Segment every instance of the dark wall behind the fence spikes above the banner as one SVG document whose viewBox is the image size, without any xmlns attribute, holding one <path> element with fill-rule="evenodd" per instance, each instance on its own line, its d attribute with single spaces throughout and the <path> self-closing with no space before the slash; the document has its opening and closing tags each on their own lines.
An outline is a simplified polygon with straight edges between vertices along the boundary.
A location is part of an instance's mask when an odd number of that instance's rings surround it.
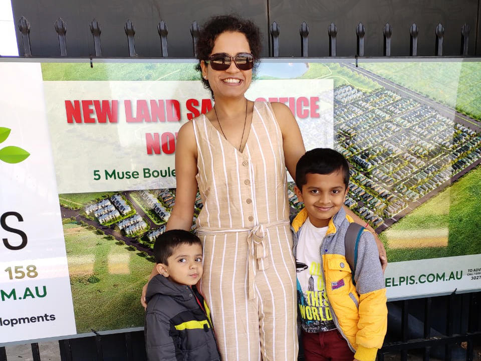
<svg viewBox="0 0 481 361">
<path fill-rule="evenodd" d="M 309 25 L 309 56 L 329 55 L 327 29 L 335 23 L 337 56 L 356 53 L 355 29 L 362 22 L 366 29 L 365 55 L 381 56 L 382 29 L 392 26 L 391 54 L 409 55 L 409 27 L 419 29 L 418 55 L 434 55 L 434 28 L 444 26 L 443 55 L 459 55 L 461 26 L 470 27 L 469 55 L 481 55 L 481 0 L 15 0 L 14 19 L 25 16 L 31 24 L 32 55 L 60 56 L 54 22 L 58 17 L 67 24 L 67 54 L 89 56 L 94 53 L 89 24 L 95 18 L 101 24 L 102 55 L 128 57 L 124 24 L 130 19 L 135 28 L 136 51 L 140 56 L 160 57 L 160 38 L 157 24 L 163 20 L 168 26 L 169 57 L 191 57 L 190 25 L 201 24 L 215 14 L 237 13 L 252 19 L 264 33 L 264 56 L 269 55 L 269 25 L 280 26 L 280 56 L 300 56 L 299 27 Z M 19 30 L 19 53 L 23 54 Z"/>
</svg>

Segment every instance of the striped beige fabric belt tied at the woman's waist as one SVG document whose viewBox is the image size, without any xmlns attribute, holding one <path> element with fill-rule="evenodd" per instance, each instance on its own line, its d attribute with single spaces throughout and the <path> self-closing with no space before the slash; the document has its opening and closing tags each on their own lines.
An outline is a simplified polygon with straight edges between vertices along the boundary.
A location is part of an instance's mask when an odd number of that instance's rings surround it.
<svg viewBox="0 0 481 361">
<path fill-rule="evenodd" d="M 238 233 L 249 232 L 247 242 L 249 245 L 249 263 L 248 263 L 248 281 L 249 281 L 249 300 L 256 298 L 256 292 L 254 291 L 254 278 L 257 271 L 264 271 L 269 269 L 269 250 L 264 243 L 266 237 L 266 230 L 272 227 L 278 227 L 288 225 L 289 220 L 282 220 L 273 223 L 261 223 L 253 228 L 237 228 L 237 229 L 221 229 L 221 230 L 209 230 L 207 228 L 198 228 L 197 235 L 217 235 L 223 233 Z"/>
</svg>

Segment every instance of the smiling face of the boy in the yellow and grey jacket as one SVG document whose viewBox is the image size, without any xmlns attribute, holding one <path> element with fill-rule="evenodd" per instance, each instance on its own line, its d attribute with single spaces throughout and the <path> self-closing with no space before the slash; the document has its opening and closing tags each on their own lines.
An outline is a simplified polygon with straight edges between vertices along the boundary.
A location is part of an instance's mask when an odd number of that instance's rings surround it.
<svg viewBox="0 0 481 361">
<path fill-rule="evenodd" d="M 306 184 L 294 187 L 299 201 L 304 203 L 314 227 L 327 227 L 329 220 L 341 209 L 347 186 L 341 169 L 329 174 L 307 173 Z"/>
</svg>

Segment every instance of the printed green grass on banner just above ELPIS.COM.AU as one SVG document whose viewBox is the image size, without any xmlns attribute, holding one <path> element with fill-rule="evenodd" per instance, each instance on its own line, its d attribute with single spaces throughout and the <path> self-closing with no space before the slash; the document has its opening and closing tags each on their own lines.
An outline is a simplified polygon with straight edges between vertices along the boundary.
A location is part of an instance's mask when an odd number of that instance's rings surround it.
<svg viewBox="0 0 481 361">
<path fill-rule="evenodd" d="M 380 235 L 386 245 L 389 262 L 477 254 L 481 249 L 481 167 L 471 170 L 451 187 L 418 207 L 389 228 L 396 231 L 448 228 L 447 247 L 389 249 L 385 233 Z"/>
</svg>

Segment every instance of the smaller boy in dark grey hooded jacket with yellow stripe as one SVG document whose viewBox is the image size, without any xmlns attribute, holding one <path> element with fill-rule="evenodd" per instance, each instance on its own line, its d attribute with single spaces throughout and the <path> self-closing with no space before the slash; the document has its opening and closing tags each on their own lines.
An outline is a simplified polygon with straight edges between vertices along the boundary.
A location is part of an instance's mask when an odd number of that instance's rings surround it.
<svg viewBox="0 0 481 361">
<path fill-rule="evenodd" d="M 159 275 L 148 286 L 145 345 L 149 361 L 220 360 L 210 313 L 195 284 L 202 276 L 202 245 L 182 230 L 154 244 Z"/>
</svg>

